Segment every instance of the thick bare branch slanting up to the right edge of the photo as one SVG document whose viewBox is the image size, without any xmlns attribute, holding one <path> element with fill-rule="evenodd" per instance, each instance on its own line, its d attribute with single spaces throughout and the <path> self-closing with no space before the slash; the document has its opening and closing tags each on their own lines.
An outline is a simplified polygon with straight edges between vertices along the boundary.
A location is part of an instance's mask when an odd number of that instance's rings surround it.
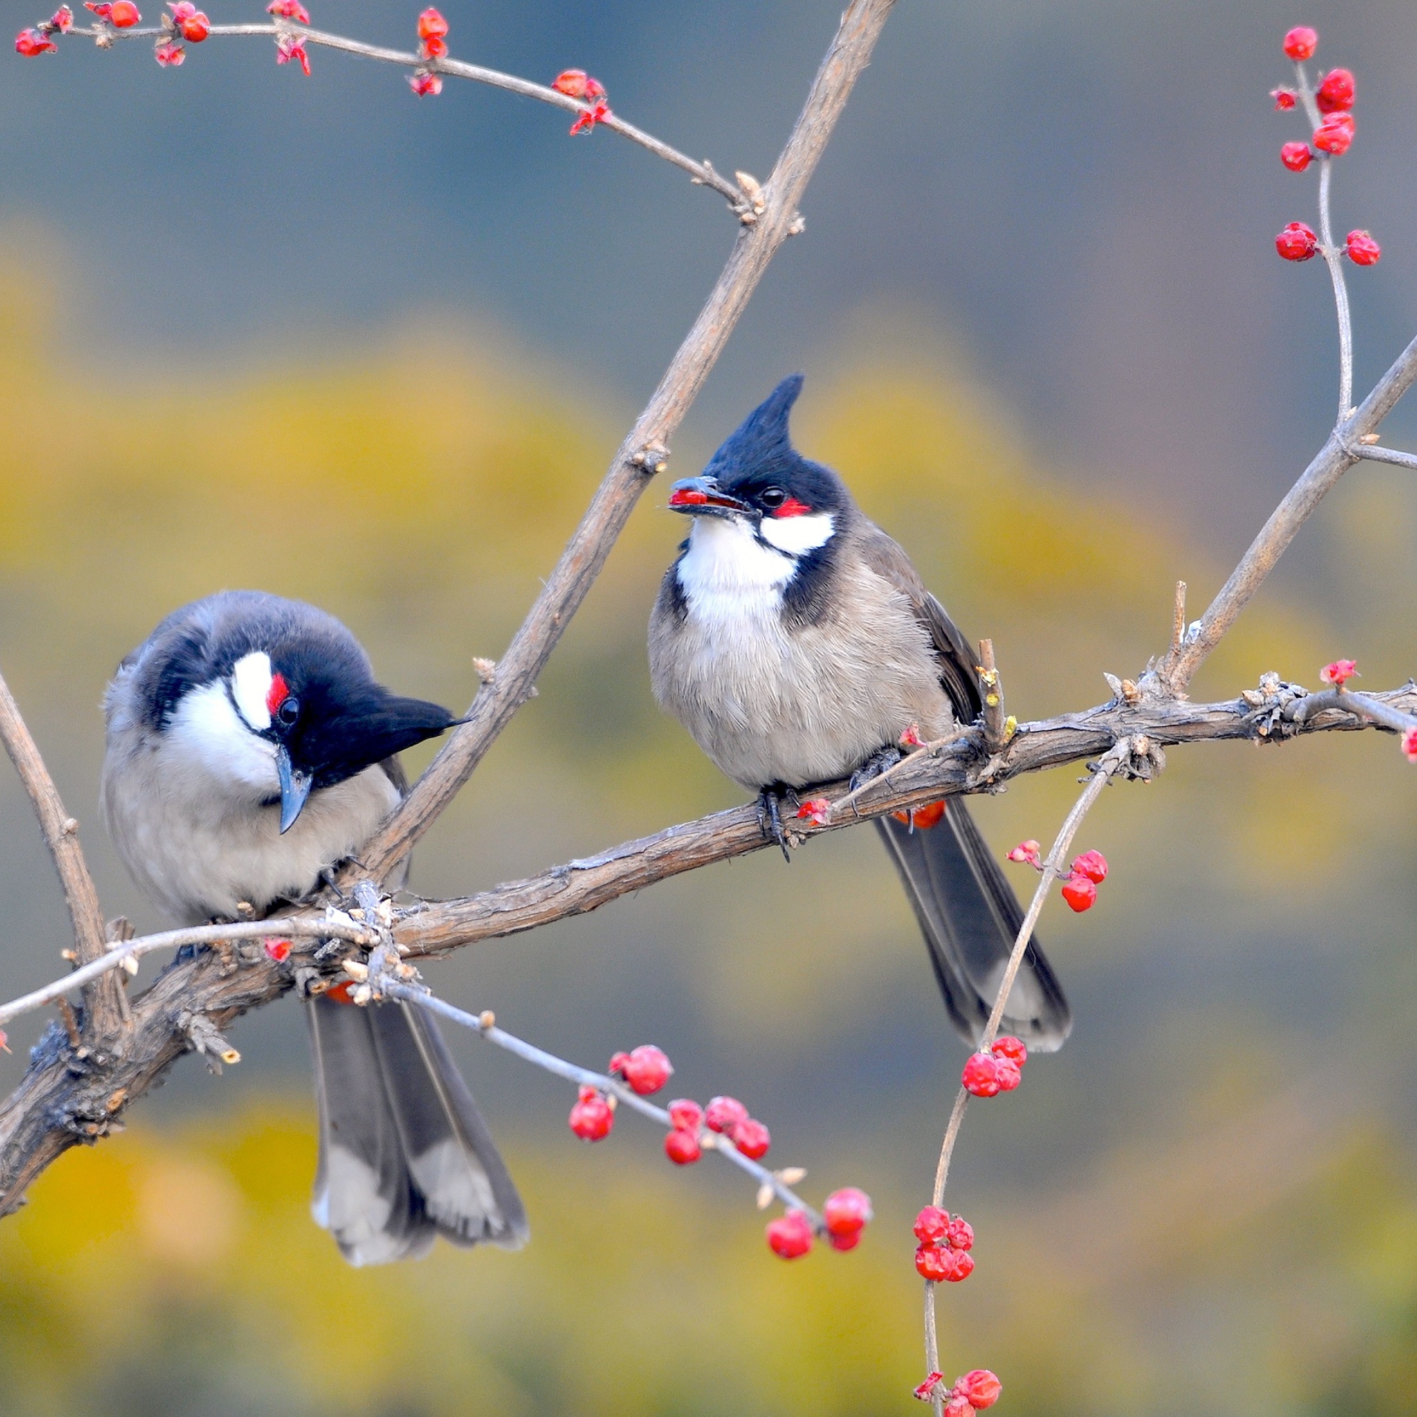
<svg viewBox="0 0 1417 1417">
<path fill-rule="evenodd" d="M 1179 650 L 1170 650 L 1162 659 L 1156 674 L 1166 693 L 1185 693 L 1196 670 L 1250 604 L 1299 527 L 1338 485 L 1339 478 L 1367 453 L 1369 449 L 1362 446 L 1362 439 L 1377 431 L 1377 425 L 1411 388 L 1414 380 L 1417 380 L 1417 339 L 1403 350 L 1362 405 L 1333 429 L 1318 456 L 1274 509 L 1270 520 L 1250 544 L 1250 550 L 1230 572 L 1230 580 L 1200 618 L 1196 633 L 1187 635 Z"/>
</svg>

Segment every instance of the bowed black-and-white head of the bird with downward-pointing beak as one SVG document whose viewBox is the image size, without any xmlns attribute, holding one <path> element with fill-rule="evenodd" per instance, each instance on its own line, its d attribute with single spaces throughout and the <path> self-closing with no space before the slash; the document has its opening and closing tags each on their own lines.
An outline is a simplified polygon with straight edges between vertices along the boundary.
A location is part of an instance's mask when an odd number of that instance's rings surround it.
<svg viewBox="0 0 1417 1417">
<path fill-rule="evenodd" d="M 252 592 L 217 599 L 210 625 L 160 653 L 152 716 L 218 789 L 279 802 L 282 833 L 312 791 L 456 721 L 438 704 L 376 683 L 359 642 L 324 612 Z"/>
</svg>

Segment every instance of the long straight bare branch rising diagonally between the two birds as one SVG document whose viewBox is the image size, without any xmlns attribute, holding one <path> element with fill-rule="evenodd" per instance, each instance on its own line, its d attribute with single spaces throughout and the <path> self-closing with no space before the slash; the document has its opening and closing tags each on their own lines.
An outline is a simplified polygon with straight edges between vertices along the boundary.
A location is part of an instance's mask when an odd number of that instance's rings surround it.
<svg viewBox="0 0 1417 1417">
<path fill-rule="evenodd" d="M 894 0 L 852 0 L 818 69 L 792 135 L 762 187 L 762 214 L 734 244 L 718 283 L 699 313 L 649 405 L 621 445 L 589 509 L 547 578 L 507 652 L 428 771 L 364 849 L 367 870 L 384 880 L 428 830 L 530 697 L 537 674 L 585 599 L 667 445 L 717 363 L 738 317 L 778 248 L 798 230 L 796 208 L 870 60 Z"/>
</svg>

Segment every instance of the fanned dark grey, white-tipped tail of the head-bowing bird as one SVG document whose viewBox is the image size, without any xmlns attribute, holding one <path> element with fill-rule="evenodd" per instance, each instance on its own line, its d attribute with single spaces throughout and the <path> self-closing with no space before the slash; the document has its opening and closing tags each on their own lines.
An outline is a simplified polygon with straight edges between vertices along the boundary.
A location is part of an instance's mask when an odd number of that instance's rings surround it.
<svg viewBox="0 0 1417 1417">
<path fill-rule="evenodd" d="M 315 1219 L 350 1264 L 526 1243 L 507 1168 L 436 1024 L 417 1005 L 307 1006 L 320 1163 Z"/>
</svg>

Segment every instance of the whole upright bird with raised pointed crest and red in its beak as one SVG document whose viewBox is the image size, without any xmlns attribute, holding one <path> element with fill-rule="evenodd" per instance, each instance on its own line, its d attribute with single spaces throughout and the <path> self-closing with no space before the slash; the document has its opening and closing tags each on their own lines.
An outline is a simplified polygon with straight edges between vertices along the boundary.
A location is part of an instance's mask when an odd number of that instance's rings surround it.
<svg viewBox="0 0 1417 1417">
<path fill-rule="evenodd" d="M 760 794 L 786 854 L 779 799 L 900 760 L 897 744 L 982 711 L 969 645 L 905 551 L 830 468 L 792 445 L 803 377 L 782 380 L 697 478 L 670 487 L 690 519 L 649 622 L 650 684 L 734 782 Z M 925 937 L 945 1010 L 978 1046 L 1023 911 L 961 798 L 877 820 Z M 791 857 L 789 857 L 791 859 Z M 1033 938 L 1003 1026 L 1061 1047 L 1071 1010 Z"/>
</svg>

